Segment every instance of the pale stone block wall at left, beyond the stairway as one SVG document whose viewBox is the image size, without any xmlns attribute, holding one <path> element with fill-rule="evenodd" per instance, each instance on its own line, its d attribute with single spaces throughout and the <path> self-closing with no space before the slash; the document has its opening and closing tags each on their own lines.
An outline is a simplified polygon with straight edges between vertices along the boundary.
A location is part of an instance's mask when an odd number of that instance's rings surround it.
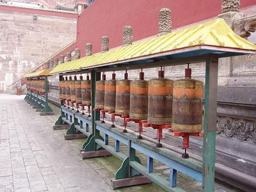
<svg viewBox="0 0 256 192">
<path fill-rule="evenodd" d="M 0 93 L 75 39 L 75 18 L 0 10 Z"/>
</svg>

